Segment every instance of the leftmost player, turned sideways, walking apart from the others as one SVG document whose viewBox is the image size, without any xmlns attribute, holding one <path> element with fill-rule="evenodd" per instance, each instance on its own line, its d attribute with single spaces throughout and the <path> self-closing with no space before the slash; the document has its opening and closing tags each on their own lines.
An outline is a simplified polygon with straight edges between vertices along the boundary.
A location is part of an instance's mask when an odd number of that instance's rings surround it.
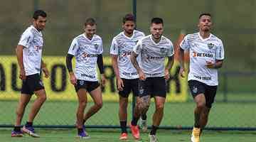
<svg viewBox="0 0 256 142">
<path fill-rule="evenodd" d="M 14 130 L 11 131 L 12 137 L 21 137 L 23 133 L 39 137 L 33 129 L 33 120 L 46 101 L 46 91 L 40 77 L 41 70 L 43 70 L 45 77 L 49 76 L 46 65 L 42 60 L 43 35 L 41 31 L 45 27 L 46 12 L 35 11 L 33 13 L 33 24 L 23 32 L 16 48 L 16 56 L 20 68 L 19 78 L 22 80 L 22 87 L 21 97 L 16 109 L 16 123 Z M 33 94 L 36 94 L 37 98 L 33 102 L 26 125 L 21 129 L 24 111 Z"/>
</svg>

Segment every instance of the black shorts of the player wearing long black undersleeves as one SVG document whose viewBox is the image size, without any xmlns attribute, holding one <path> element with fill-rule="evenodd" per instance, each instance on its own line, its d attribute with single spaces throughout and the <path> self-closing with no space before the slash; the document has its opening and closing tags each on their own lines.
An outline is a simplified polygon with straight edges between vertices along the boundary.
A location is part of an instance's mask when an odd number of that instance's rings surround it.
<svg viewBox="0 0 256 142">
<path fill-rule="evenodd" d="M 100 86 L 99 82 L 90 82 L 85 80 L 77 80 L 75 85 L 75 92 L 78 92 L 79 89 L 86 89 L 87 92 L 92 92 L 94 89 Z"/>
</svg>

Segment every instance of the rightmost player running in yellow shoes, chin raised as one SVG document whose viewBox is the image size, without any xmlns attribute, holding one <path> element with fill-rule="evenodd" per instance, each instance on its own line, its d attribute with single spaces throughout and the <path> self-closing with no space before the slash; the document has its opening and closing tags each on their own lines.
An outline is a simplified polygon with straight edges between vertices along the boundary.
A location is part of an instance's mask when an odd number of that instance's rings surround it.
<svg viewBox="0 0 256 142">
<path fill-rule="evenodd" d="M 184 50 L 189 50 L 188 85 L 196 102 L 192 142 L 199 142 L 202 129 L 207 124 L 218 86 L 218 68 L 223 65 L 223 43 L 210 33 L 212 24 L 210 13 L 202 13 L 198 22 L 199 32 L 186 35 L 180 44 L 180 74 L 184 77 L 183 55 Z"/>
</svg>

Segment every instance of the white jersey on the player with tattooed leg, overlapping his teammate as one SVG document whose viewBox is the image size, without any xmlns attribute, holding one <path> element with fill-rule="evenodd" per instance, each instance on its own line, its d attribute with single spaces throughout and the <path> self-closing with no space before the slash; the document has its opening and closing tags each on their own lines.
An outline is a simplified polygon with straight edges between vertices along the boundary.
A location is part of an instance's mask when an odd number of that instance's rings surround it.
<svg viewBox="0 0 256 142">
<path fill-rule="evenodd" d="M 146 77 L 164 77 L 164 60 L 174 55 L 174 45 L 164 35 L 159 43 L 154 42 L 152 35 L 147 35 L 138 41 L 133 51 L 140 56 L 139 66 Z"/>
</svg>

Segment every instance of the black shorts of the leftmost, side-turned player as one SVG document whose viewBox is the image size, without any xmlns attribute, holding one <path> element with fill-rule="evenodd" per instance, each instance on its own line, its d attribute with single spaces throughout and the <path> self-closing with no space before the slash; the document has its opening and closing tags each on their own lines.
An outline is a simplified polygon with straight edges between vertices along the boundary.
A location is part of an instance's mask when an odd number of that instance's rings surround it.
<svg viewBox="0 0 256 142">
<path fill-rule="evenodd" d="M 32 95 L 40 89 L 44 89 L 44 87 L 39 74 L 28 75 L 26 80 L 22 80 L 21 94 Z"/>
</svg>

